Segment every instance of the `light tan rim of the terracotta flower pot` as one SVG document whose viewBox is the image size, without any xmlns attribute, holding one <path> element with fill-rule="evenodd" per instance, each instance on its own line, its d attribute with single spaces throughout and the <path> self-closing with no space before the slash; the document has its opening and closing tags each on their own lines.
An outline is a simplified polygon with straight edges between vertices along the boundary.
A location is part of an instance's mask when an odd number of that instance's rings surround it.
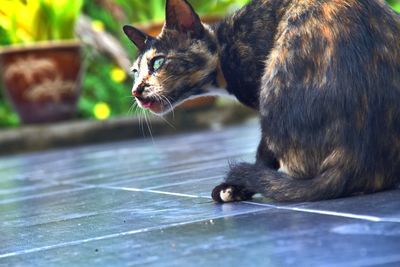
<svg viewBox="0 0 400 267">
<path fill-rule="evenodd" d="M 81 46 L 82 43 L 79 40 L 41 41 L 29 44 L 13 44 L 0 47 L 0 55 L 48 49 L 80 48 Z"/>
</svg>

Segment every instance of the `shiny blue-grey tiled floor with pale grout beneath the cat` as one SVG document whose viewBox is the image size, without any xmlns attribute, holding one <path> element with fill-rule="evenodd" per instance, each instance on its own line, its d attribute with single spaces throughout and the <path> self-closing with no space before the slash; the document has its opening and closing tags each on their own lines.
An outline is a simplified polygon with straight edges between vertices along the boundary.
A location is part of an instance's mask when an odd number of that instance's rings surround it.
<svg viewBox="0 0 400 267">
<path fill-rule="evenodd" d="M 400 266 L 400 190 L 218 205 L 255 122 L 0 158 L 0 266 Z"/>
</svg>

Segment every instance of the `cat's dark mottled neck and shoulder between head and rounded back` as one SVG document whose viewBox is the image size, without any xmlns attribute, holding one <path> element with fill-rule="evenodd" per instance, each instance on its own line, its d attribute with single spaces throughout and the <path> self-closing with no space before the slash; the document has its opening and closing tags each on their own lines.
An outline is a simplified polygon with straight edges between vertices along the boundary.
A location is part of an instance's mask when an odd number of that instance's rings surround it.
<svg viewBox="0 0 400 267">
<path fill-rule="evenodd" d="M 218 87 L 251 108 L 258 110 L 265 60 L 283 7 L 290 1 L 254 0 L 212 28 L 220 51 Z"/>
</svg>

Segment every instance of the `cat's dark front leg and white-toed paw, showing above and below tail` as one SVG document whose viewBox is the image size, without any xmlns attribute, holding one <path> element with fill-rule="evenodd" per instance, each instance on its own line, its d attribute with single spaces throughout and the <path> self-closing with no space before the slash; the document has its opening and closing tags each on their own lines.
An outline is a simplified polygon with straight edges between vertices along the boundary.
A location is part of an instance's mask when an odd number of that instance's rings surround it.
<svg viewBox="0 0 400 267">
<path fill-rule="evenodd" d="M 279 169 L 278 160 L 263 140 L 258 145 L 256 164 L 275 170 Z M 217 202 L 232 202 L 251 199 L 254 194 L 253 191 L 249 191 L 243 186 L 222 183 L 213 189 L 211 197 Z"/>
</svg>

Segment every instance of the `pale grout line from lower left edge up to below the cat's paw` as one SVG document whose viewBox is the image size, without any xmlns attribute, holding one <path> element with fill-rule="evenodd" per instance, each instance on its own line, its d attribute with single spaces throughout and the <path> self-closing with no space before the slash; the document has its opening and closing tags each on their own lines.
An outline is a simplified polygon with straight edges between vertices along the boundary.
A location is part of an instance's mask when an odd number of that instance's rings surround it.
<svg viewBox="0 0 400 267">
<path fill-rule="evenodd" d="M 172 223 L 172 224 L 167 224 L 167 225 L 162 225 L 162 226 L 148 227 L 148 228 L 143 228 L 143 229 L 139 229 L 139 230 L 132 230 L 132 231 L 127 231 L 127 232 L 122 232 L 122 233 L 109 234 L 109 235 L 103 235 L 103 236 L 98 236 L 98 237 L 93 237 L 93 238 L 64 242 L 64 243 L 59 243 L 57 245 L 48 245 L 48 246 L 43 246 L 43 247 L 38 247 L 38 248 L 14 251 L 14 252 L 9 252 L 9 253 L 5 253 L 5 254 L 0 254 L 0 259 L 14 257 L 14 256 L 20 256 L 20 255 L 34 253 L 34 252 L 41 252 L 41 251 L 46 251 L 46 250 L 51 250 L 51 249 L 57 249 L 57 248 L 62 248 L 62 247 L 68 247 L 68 246 L 73 246 L 73 245 L 80 245 L 80 244 L 85 244 L 85 243 L 89 243 L 89 242 L 93 242 L 93 241 L 101 241 L 101 240 L 106 240 L 106 239 L 111 239 L 111 238 L 116 238 L 116 237 L 146 233 L 146 232 L 150 232 L 150 231 L 154 231 L 154 230 L 164 230 L 164 229 L 171 228 L 171 227 L 184 226 L 184 225 L 199 223 L 199 222 L 203 222 L 203 221 L 217 220 L 217 219 L 227 218 L 227 217 L 235 217 L 235 216 L 245 215 L 245 214 L 249 214 L 249 213 L 260 212 L 260 211 L 264 211 L 264 210 L 265 209 L 260 208 L 257 210 L 242 211 L 242 212 L 236 212 L 236 213 L 232 213 L 232 214 L 222 214 L 220 216 L 212 216 L 212 217 L 208 217 L 208 218 L 192 220 L 192 221 L 187 221 L 187 222 Z"/>
</svg>

